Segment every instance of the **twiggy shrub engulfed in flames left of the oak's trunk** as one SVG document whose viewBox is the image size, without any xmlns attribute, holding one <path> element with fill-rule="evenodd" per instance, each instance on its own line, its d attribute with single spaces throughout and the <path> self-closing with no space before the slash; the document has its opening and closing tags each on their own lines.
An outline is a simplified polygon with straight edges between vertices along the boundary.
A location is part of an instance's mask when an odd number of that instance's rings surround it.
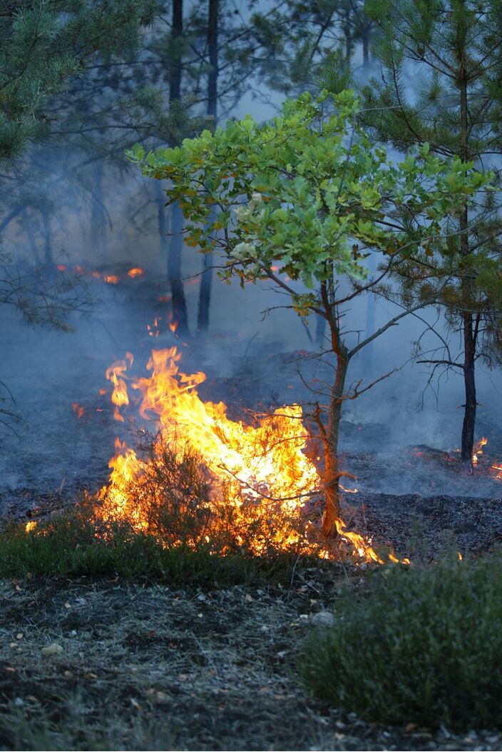
<svg viewBox="0 0 502 752">
<path fill-rule="evenodd" d="M 188 443 L 168 442 L 160 433 L 145 456 L 131 452 L 128 458 L 134 472 L 126 462 L 101 493 L 101 524 L 126 521 L 164 547 L 192 551 L 269 556 L 307 546 L 306 517 L 298 505 L 288 515 L 283 499 L 215 475 Z"/>
</svg>

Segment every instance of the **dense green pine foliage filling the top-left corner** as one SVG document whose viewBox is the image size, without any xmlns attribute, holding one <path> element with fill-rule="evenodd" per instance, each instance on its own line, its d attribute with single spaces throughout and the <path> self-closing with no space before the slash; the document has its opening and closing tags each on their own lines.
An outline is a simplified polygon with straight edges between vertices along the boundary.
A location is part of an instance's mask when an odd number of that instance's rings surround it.
<svg viewBox="0 0 502 752">
<path fill-rule="evenodd" d="M 83 74 L 99 50 L 134 47 L 155 14 L 152 0 L 8 3 L 0 14 L 0 160 L 48 132 L 48 100 Z"/>
</svg>

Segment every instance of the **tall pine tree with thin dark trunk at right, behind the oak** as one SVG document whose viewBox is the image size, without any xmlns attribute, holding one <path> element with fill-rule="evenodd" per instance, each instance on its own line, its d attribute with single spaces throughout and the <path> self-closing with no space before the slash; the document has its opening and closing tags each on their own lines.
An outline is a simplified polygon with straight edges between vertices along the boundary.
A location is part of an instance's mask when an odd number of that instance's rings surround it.
<svg viewBox="0 0 502 752">
<path fill-rule="evenodd" d="M 363 89 L 365 123 L 374 138 L 399 150 L 427 142 L 437 154 L 458 156 L 479 169 L 489 165 L 502 153 L 500 0 L 371 0 L 367 11 L 380 29 L 375 54 L 383 65 L 383 81 L 372 80 Z M 438 347 L 420 358 L 433 369 L 455 368 L 463 375 L 461 458 L 471 466 L 476 361 L 491 363 L 500 351 L 502 220 L 497 194 L 479 196 L 470 210 L 465 202 L 449 224 L 458 230 L 446 251 L 456 271 L 440 303 L 462 345 L 455 354 L 440 335 Z M 445 260 L 433 254 L 428 259 L 431 265 Z M 407 278 L 407 288 L 412 279 Z"/>
</svg>

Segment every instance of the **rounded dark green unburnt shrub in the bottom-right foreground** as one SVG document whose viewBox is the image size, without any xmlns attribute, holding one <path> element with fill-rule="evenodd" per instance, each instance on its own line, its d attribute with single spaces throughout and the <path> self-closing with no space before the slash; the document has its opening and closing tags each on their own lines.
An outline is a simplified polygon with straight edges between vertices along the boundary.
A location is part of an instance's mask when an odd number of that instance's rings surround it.
<svg viewBox="0 0 502 752">
<path fill-rule="evenodd" d="M 397 566 L 335 606 L 299 667 L 313 693 L 377 723 L 502 726 L 502 556 Z"/>
</svg>

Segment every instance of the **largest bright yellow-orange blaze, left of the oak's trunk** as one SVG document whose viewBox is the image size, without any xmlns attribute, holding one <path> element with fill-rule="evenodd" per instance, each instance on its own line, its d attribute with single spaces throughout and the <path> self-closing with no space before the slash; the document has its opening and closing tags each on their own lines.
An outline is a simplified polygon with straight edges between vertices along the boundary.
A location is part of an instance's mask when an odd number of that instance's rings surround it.
<svg viewBox="0 0 502 752">
<path fill-rule="evenodd" d="M 131 353 L 128 356 L 131 364 Z M 278 408 L 254 425 L 230 420 L 223 402 L 200 399 L 197 387 L 206 375 L 183 373 L 180 358 L 176 347 L 152 350 L 147 364 L 151 374 L 131 381 L 132 389 L 140 393 L 140 415 L 155 420 L 157 438 L 146 459 L 116 439 L 116 455 L 109 463 L 110 482 L 99 493 L 98 517 L 128 520 L 138 531 L 152 530 L 150 481 L 158 477 L 166 452 L 186 462 L 188 446 L 200 457 L 210 480 L 197 507 L 198 517 L 204 520 L 200 541 L 225 533 L 223 552 L 245 544 L 256 555 L 294 550 L 331 558 L 335 552 L 326 551 L 326 541 L 319 550 L 314 543 L 315 526 L 308 521 L 311 499 L 321 496 L 322 489 L 317 469 L 305 454 L 308 435 L 301 406 Z M 107 369 L 116 412 L 129 403 L 126 369 L 125 360 Z M 124 420 L 122 415 L 118 420 Z M 172 491 L 179 495 L 177 505 L 184 505 L 185 497 L 192 493 L 191 487 L 182 492 L 179 481 Z M 158 490 L 156 493 L 158 496 Z M 383 563 L 370 542 L 347 531 L 342 520 L 337 521 L 337 529 L 341 539 L 353 547 L 356 558 Z"/>
</svg>

